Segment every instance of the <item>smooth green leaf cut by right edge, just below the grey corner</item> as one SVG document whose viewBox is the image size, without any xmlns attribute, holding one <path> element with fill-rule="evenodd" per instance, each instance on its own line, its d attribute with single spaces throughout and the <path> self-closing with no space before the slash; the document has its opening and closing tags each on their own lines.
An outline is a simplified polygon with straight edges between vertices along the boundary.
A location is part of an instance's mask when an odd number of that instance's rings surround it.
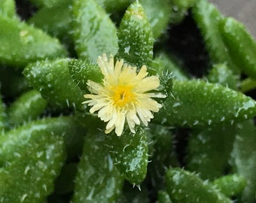
<svg viewBox="0 0 256 203">
<path fill-rule="evenodd" d="M 223 20 L 221 34 L 230 56 L 240 70 L 256 78 L 256 41 L 242 23 L 228 17 Z"/>
</svg>

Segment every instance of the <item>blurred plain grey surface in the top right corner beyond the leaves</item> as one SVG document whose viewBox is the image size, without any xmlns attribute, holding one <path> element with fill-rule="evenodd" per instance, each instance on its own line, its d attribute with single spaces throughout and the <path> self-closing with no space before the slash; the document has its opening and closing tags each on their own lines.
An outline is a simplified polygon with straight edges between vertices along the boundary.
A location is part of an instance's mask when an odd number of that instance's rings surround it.
<svg viewBox="0 0 256 203">
<path fill-rule="evenodd" d="M 245 24 L 256 39 L 256 1 L 255 0 L 209 0 L 222 14 L 236 18 Z"/>
</svg>

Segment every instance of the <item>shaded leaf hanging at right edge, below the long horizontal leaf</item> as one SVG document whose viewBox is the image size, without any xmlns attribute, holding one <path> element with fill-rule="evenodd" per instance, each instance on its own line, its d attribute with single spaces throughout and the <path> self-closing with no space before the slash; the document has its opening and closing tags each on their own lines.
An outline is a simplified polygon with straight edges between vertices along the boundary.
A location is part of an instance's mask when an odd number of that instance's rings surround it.
<svg viewBox="0 0 256 203">
<path fill-rule="evenodd" d="M 256 191 L 256 128 L 252 120 L 237 125 L 238 132 L 233 144 L 233 169 L 247 181 L 242 192 L 243 202 L 252 202 Z"/>
</svg>

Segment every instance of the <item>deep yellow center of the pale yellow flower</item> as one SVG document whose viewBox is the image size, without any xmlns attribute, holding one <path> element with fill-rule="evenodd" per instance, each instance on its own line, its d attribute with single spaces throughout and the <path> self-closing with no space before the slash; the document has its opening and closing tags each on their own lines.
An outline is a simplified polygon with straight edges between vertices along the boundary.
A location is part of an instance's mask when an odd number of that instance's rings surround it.
<svg viewBox="0 0 256 203">
<path fill-rule="evenodd" d="M 118 107 L 123 107 L 127 103 L 133 102 L 135 95 L 131 90 L 132 86 L 115 86 L 113 88 L 114 104 Z"/>
</svg>

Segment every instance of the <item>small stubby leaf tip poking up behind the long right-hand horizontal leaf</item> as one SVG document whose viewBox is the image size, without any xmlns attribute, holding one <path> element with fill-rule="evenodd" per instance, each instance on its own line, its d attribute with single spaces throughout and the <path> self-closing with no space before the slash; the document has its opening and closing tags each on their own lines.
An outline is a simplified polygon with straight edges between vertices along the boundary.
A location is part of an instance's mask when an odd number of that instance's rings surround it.
<svg viewBox="0 0 256 203">
<path fill-rule="evenodd" d="M 239 87 L 239 77 L 225 64 L 215 64 L 207 76 L 210 83 L 219 83 L 223 86 L 228 86 L 230 89 L 237 90 Z"/>
</svg>

